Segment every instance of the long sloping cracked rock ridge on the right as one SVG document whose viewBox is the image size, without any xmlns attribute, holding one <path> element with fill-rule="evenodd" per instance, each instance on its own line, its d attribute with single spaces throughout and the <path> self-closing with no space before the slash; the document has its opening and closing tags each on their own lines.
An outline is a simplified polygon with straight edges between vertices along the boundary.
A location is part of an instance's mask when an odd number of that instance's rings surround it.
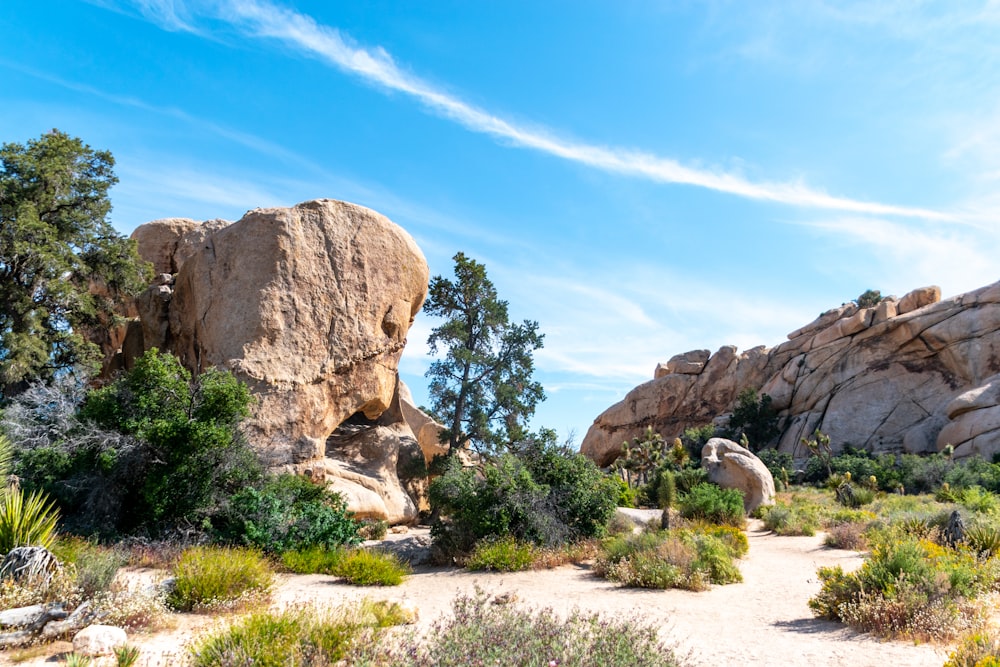
<svg viewBox="0 0 1000 667">
<path fill-rule="evenodd" d="M 778 448 L 796 457 L 807 456 L 800 440 L 819 428 L 835 450 L 950 444 L 956 456 L 990 458 L 1000 451 L 1000 283 L 940 294 L 927 287 L 874 308 L 834 308 L 774 348 L 723 347 L 697 373 L 688 360 L 701 352 L 678 355 L 601 414 L 581 450 L 608 465 L 646 427 L 669 440 L 729 412 L 753 388 L 771 396 L 783 425 Z"/>
</svg>

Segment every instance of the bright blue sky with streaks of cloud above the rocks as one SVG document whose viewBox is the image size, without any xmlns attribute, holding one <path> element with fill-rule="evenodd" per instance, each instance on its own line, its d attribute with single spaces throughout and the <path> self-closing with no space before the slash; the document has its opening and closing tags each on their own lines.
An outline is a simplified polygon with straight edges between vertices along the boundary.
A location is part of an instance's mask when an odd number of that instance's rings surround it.
<svg viewBox="0 0 1000 667">
<path fill-rule="evenodd" d="M 9 0 L 0 34 L 0 141 L 111 150 L 123 233 L 331 197 L 484 262 L 577 441 L 678 352 L 1000 277 L 998 2 Z"/>
</svg>

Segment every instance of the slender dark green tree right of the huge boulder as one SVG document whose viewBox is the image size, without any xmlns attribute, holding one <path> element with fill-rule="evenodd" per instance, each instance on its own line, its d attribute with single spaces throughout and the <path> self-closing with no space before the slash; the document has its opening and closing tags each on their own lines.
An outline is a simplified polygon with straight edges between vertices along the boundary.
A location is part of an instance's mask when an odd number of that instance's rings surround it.
<svg viewBox="0 0 1000 667">
<path fill-rule="evenodd" d="M 525 423 L 545 394 L 532 352 L 542 347 L 538 323 L 512 324 L 486 267 L 458 253 L 455 279 L 435 276 L 424 312 L 444 318 L 428 339 L 431 410 L 444 419 L 443 442 L 457 451 L 466 442 L 484 452 L 522 440 Z M 446 439 L 446 440 L 444 440 Z"/>
</svg>

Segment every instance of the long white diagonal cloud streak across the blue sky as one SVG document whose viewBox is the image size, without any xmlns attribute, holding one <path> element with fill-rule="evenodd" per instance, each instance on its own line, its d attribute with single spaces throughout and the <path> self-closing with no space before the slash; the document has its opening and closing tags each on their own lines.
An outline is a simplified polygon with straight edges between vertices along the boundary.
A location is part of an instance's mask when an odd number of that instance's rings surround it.
<svg viewBox="0 0 1000 667">
<path fill-rule="evenodd" d="M 139 0 L 135 6 L 147 19 L 166 29 L 198 32 L 190 18 L 195 10 L 182 0 Z M 244 34 L 277 40 L 365 81 L 409 95 L 474 132 L 605 172 L 659 183 L 702 187 L 791 206 L 939 220 L 951 217 L 926 208 L 838 197 L 801 182 L 751 181 L 725 170 L 689 167 L 677 160 L 641 150 L 604 147 L 560 138 L 549 130 L 514 123 L 465 102 L 457 95 L 405 71 L 381 47 L 355 45 L 336 28 L 321 25 L 310 16 L 262 0 L 221 0 L 200 5 L 197 11 L 226 21 Z"/>
</svg>

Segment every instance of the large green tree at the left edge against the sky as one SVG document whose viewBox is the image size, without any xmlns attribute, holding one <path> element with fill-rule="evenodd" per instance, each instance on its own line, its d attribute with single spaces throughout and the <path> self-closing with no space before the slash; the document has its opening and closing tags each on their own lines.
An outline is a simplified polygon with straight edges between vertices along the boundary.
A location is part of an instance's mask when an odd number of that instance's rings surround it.
<svg viewBox="0 0 1000 667">
<path fill-rule="evenodd" d="M 114 159 L 52 130 L 0 146 L 0 391 L 98 360 L 86 339 L 146 284 L 107 220 Z"/>
</svg>

